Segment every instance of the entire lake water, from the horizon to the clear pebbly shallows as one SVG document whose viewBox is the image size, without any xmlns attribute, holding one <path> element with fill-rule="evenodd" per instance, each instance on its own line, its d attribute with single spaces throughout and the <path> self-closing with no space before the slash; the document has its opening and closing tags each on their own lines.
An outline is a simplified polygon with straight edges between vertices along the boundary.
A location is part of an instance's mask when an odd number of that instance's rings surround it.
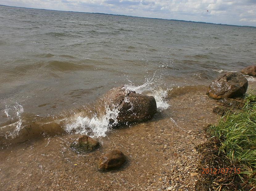
<svg viewBox="0 0 256 191">
<path fill-rule="evenodd" d="M 250 27 L 6 6 L 0 24 L 1 190 L 193 190 L 195 145 L 219 118 L 207 87 L 255 64 Z M 118 111 L 101 98 L 121 85 L 155 97 L 153 119 L 109 127 Z M 75 153 L 79 134 L 101 146 Z M 103 173 L 98 158 L 112 149 L 127 162 Z"/>
</svg>

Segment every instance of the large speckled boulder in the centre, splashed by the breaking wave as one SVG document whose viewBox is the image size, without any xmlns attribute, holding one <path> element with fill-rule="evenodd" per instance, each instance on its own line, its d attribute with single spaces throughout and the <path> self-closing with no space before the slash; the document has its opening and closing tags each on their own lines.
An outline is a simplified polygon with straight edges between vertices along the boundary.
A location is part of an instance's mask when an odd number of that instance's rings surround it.
<svg viewBox="0 0 256 191">
<path fill-rule="evenodd" d="M 110 110 L 118 111 L 118 115 L 109 120 L 114 126 L 146 121 L 156 113 L 153 96 L 138 94 L 125 87 L 113 88 L 106 92 L 103 102 Z"/>
</svg>

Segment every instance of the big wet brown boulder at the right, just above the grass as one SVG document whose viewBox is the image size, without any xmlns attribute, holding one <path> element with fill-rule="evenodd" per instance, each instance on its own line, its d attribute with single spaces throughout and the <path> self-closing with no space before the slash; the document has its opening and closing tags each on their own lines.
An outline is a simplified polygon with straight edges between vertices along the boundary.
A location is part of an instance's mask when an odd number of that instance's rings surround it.
<svg viewBox="0 0 256 191">
<path fill-rule="evenodd" d="M 207 95 L 213 99 L 237 98 L 247 90 L 248 81 L 238 72 L 227 72 L 218 76 L 208 88 Z"/>
</svg>

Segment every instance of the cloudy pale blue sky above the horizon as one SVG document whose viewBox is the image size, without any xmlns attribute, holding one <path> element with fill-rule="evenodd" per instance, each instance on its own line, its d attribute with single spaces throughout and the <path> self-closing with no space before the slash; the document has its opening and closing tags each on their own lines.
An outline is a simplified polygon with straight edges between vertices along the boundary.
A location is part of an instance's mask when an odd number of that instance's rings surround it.
<svg viewBox="0 0 256 191">
<path fill-rule="evenodd" d="M 0 4 L 256 26 L 256 0 L 1 0 Z"/>
</svg>

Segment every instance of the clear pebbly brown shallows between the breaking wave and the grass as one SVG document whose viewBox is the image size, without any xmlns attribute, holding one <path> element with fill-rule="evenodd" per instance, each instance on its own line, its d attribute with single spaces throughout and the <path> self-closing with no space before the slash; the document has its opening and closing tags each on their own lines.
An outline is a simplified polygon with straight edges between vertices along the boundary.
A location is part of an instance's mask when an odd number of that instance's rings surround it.
<svg viewBox="0 0 256 191">
<path fill-rule="evenodd" d="M 122 127 L 99 138 L 101 147 L 87 154 L 69 148 L 76 134 L 45 136 L 2 145 L 1 190 L 195 190 L 204 127 L 217 123 L 212 108 L 220 103 L 207 87 L 171 96 L 170 107 L 148 122 Z M 119 170 L 101 172 L 102 154 L 119 149 L 127 157 Z"/>
</svg>

